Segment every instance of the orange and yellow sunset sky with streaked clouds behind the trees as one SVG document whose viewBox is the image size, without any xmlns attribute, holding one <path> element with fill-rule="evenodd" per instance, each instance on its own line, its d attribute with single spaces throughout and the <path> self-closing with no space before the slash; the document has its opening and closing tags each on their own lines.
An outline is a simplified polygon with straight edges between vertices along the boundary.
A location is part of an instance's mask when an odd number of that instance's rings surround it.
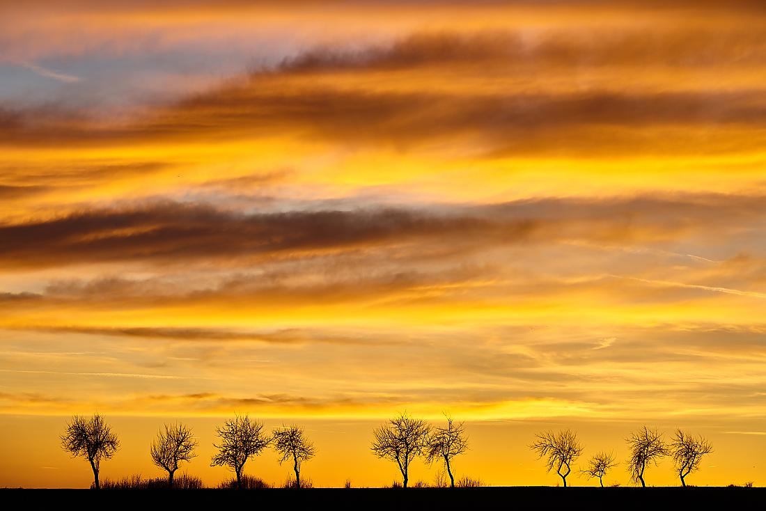
<svg viewBox="0 0 766 511">
<path fill-rule="evenodd" d="M 0 0 L 0 486 L 88 486 L 97 411 L 102 478 L 184 421 L 217 484 L 250 414 L 381 486 L 408 411 L 486 483 L 557 483 L 570 427 L 630 484 L 646 424 L 763 485 L 764 87 L 756 0 Z"/>
</svg>

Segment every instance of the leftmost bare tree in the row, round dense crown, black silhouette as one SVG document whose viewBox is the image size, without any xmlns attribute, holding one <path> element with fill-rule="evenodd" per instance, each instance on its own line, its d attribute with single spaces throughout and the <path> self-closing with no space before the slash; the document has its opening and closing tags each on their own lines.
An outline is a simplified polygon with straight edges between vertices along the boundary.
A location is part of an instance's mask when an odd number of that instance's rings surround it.
<svg viewBox="0 0 766 511">
<path fill-rule="evenodd" d="M 75 415 L 61 435 L 61 447 L 73 457 L 84 457 L 93 469 L 93 483 L 101 486 L 98 471 L 101 460 L 109 460 L 119 449 L 119 440 L 100 414 L 88 419 Z"/>
</svg>

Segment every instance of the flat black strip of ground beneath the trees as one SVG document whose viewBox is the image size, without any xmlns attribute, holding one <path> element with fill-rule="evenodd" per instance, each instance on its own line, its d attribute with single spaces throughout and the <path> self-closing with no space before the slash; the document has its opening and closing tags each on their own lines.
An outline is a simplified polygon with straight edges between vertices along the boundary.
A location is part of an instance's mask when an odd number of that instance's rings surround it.
<svg viewBox="0 0 766 511">
<path fill-rule="evenodd" d="M 766 488 L 0 490 L 2 509 L 766 509 Z M 144 508 L 144 509 L 141 509 Z"/>
</svg>

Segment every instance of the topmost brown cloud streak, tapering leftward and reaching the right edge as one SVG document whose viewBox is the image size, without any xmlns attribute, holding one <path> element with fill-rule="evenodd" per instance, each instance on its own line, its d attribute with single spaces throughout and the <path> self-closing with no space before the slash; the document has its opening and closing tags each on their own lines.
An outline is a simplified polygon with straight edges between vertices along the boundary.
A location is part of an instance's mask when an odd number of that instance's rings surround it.
<svg viewBox="0 0 766 511">
<path fill-rule="evenodd" d="M 422 32 L 393 44 L 347 51 L 319 47 L 286 58 L 276 70 L 260 74 L 333 73 L 342 70 L 402 70 L 455 65 L 492 66 L 494 73 L 538 73 L 545 67 L 596 70 L 602 66 L 662 65 L 694 69 L 712 64 L 764 64 L 763 28 L 736 30 L 683 28 L 677 31 L 603 28 L 583 34 L 577 28 L 542 33 L 530 39 L 514 31 Z M 465 69 L 465 68 L 461 68 Z M 466 69 L 476 74 L 476 69 Z"/>
</svg>

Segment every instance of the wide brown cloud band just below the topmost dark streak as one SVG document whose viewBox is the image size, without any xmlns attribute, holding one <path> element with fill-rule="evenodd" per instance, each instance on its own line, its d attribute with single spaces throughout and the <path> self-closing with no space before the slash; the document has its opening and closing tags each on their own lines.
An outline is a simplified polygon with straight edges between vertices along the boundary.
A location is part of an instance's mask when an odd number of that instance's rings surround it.
<svg viewBox="0 0 766 511">
<path fill-rule="evenodd" d="M 477 134 L 489 146 L 524 152 L 529 141 L 545 142 L 548 151 L 577 151 L 584 136 L 588 136 L 583 128 L 602 129 L 601 138 L 608 150 L 614 145 L 609 143 L 614 138 L 609 128 L 688 126 L 705 129 L 712 137 L 719 132 L 725 135 L 727 126 L 752 127 L 764 123 L 766 102 L 761 90 L 456 96 L 332 89 L 263 93 L 254 86 L 196 97 L 155 120 L 125 129 L 54 123 L 29 129 L 11 126 L 0 129 L 0 133 L 6 144 L 28 146 L 62 143 L 99 146 L 150 139 L 209 142 L 274 133 L 342 143 L 412 146 L 430 139 Z M 754 144 L 760 140 L 758 132 L 753 137 Z M 633 142 L 638 144 L 635 150 L 647 146 L 640 136 L 633 136 Z M 537 143 L 535 149 L 545 152 Z M 680 150 L 676 146 L 676 152 Z M 705 152 L 705 145 L 698 143 L 692 150 Z"/>
</svg>

